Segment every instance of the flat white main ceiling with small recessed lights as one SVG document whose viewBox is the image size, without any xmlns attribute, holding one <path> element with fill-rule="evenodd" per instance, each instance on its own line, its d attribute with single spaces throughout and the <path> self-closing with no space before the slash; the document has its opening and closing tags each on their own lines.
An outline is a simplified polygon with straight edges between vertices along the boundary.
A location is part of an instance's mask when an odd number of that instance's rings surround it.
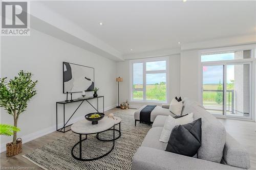
<svg viewBox="0 0 256 170">
<path fill-rule="evenodd" d="M 179 48 L 178 42 L 251 35 L 256 31 L 256 1 L 41 3 L 123 55 Z"/>
</svg>

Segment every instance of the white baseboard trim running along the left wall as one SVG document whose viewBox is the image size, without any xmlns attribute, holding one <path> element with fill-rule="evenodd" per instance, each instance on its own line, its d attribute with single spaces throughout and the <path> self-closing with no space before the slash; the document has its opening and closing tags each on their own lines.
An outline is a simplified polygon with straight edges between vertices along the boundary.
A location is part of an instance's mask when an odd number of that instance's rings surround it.
<svg viewBox="0 0 256 170">
<path fill-rule="evenodd" d="M 116 107 L 116 105 L 112 105 L 112 106 L 106 107 L 105 111 L 108 111 L 108 110 L 113 109 L 115 107 Z M 73 124 L 73 123 L 77 122 L 78 120 L 80 120 L 82 118 L 83 118 L 83 116 L 79 116 L 79 117 L 76 117 L 74 119 L 71 119 L 69 122 L 71 124 Z M 58 124 L 58 127 L 61 127 L 61 126 L 63 126 L 62 123 Z M 22 138 L 22 143 L 27 143 L 27 142 L 29 142 L 31 140 L 34 140 L 34 139 L 37 139 L 39 137 L 45 136 L 45 135 L 47 135 L 49 133 L 52 133 L 54 131 L 56 131 L 56 125 L 48 127 L 48 128 L 45 128 L 45 129 L 42 129 L 42 130 L 37 131 L 37 132 L 33 132 L 33 133 L 30 133 L 30 134 L 21 136 L 20 138 Z M 11 141 L 9 141 L 9 142 L 11 142 Z M 6 143 L 2 143 L 1 144 L 1 148 L 0 148 L 0 153 L 5 152 L 5 151 L 6 151 Z"/>
</svg>

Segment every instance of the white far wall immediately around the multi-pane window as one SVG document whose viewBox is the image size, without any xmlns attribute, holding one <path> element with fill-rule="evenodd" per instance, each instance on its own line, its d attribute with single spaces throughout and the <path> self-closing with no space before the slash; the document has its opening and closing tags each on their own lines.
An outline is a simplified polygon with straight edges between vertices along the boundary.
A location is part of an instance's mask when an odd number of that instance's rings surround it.
<svg viewBox="0 0 256 170">
<path fill-rule="evenodd" d="M 117 62 L 117 73 L 116 77 L 122 77 L 123 82 L 119 83 L 119 99 L 120 103 L 129 100 L 129 84 L 130 84 L 130 65 L 129 60 L 123 62 Z M 169 57 L 169 101 L 172 100 L 175 96 L 180 95 L 180 55 L 171 55 Z M 155 103 L 156 105 L 161 106 L 162 104 Z M 146 103 L 134 103 L 130 102 L 131 108 L 139 108 Z"/>
</svg>

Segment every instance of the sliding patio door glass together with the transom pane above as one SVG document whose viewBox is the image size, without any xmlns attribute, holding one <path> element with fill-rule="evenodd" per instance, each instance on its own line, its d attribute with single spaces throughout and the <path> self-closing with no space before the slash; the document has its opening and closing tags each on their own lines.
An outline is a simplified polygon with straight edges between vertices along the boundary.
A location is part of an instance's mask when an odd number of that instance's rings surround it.
<svg viewBox="0 0 256 170">
<path fill-rule="evenodd" d="M 251 118 L 252 50 L 202 54 L 202 103 L 212 114 Z"/>
</svg>

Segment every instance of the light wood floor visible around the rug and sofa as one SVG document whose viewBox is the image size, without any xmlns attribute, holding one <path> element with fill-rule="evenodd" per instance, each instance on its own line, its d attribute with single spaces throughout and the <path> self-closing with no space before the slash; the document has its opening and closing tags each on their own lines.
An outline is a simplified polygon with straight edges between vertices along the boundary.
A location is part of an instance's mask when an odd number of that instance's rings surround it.
<svg viewBox="0 0 256 170">
<path fill-rule="evenodd" d="M 116 113 L 116 112 L 127 112 L 133 113 L 135 109 L 127 109 L 127 110 L 120 110 L 117 108 L 113 108 L 105 113 L 108 115 L 109 113 Z M 116 113 L 117 115 L 118 113 Z M 255 122 L 247 122 L 241 120 L 230 120 L 230 119 L 219 119 L 220 122 L 226 127 L 226 131 L 236 138 L 249 152 L 250 154 L 250 163 L 251 168 L 256 170 L 256 123 Z M 27 159 L 23 158 L 22 155 L 26 154 L 29 151 L 33 151 L 43 145 L 60 138 L 63 135 L 72 133 L 71 131 L 66 133 L 61 132 L 53 132 L 48 135 L 42 136 L 30 142 L 23 144 L 23 152 L 19 155 L 7 158 L 6 152 L 1 153 L 0 157 L 0 165 L 1 167 L 31 167 L 30 169 L 41 169 L 37 165 L 31 163 Z M 1 169 L 0 167 L 0 169 Z"/>
</svg>

